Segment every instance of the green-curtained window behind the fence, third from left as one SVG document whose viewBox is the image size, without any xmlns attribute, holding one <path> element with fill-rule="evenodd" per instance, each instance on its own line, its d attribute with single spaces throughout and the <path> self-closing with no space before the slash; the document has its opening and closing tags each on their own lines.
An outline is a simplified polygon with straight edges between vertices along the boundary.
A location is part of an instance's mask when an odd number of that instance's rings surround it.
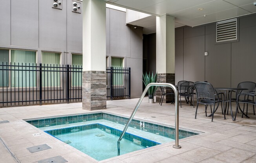
<svg viewBox="0 0 256 163">
<path fill-rule="evenodd" d="M 42 52 L 42 87 L 60 87 L 60 53 Z"/>
</svg>

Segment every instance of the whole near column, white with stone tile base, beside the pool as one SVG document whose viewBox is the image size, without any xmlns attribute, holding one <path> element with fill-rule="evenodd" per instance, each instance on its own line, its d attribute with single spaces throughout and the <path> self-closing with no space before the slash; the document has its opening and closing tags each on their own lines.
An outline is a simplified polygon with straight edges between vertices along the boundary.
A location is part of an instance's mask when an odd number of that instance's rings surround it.
<svg viewBox="0 0 256 163">
<path fill-rule="evenodd" d="M 83 0 L 82 108 L 106 109 L 106 1 Z"/>
</svg>

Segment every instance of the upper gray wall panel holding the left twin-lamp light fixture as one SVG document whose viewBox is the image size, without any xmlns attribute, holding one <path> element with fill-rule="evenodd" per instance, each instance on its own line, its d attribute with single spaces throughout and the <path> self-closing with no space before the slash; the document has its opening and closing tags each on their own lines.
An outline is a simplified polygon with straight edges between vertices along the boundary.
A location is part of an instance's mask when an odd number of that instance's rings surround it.
<svg viewBox="0 0 256 163">
<path fill-rule="evenodd" d="M 39 1 L 39 47 L 66 50 L 66 0 L 62 10 L 51 7 L 51 0 Z"/>
</svg>

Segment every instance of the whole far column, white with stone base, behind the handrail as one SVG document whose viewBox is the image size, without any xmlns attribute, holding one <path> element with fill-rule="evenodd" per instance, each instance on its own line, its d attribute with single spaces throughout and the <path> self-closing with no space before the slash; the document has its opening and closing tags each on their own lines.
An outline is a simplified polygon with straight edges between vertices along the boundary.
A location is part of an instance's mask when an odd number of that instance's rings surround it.
<svg viewBox="0 0 256 163">
<path fill-rule="evenodd" d="M 156 71 L 158 81 L 175 84 L 175 18 L 169 15 L 156 17 Z M 166 89 L 166 92 L 171 92 Z M 156 100 L 161 97 L 157 89 Z M 172 102 L 171 96 L 166 96 L 164 103 Z"/>
</svg>

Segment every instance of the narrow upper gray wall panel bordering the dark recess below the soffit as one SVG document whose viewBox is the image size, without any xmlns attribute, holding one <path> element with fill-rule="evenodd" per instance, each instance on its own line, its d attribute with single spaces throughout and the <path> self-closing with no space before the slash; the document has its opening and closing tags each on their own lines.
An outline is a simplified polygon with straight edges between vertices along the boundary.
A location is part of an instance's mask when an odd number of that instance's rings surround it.
<svg viewBox="0 0 256 163">
<path fill-rule="evenodd" d="M 142 29 L 130 27 L 130 58 L 142 59 Z"/>
</svg>

